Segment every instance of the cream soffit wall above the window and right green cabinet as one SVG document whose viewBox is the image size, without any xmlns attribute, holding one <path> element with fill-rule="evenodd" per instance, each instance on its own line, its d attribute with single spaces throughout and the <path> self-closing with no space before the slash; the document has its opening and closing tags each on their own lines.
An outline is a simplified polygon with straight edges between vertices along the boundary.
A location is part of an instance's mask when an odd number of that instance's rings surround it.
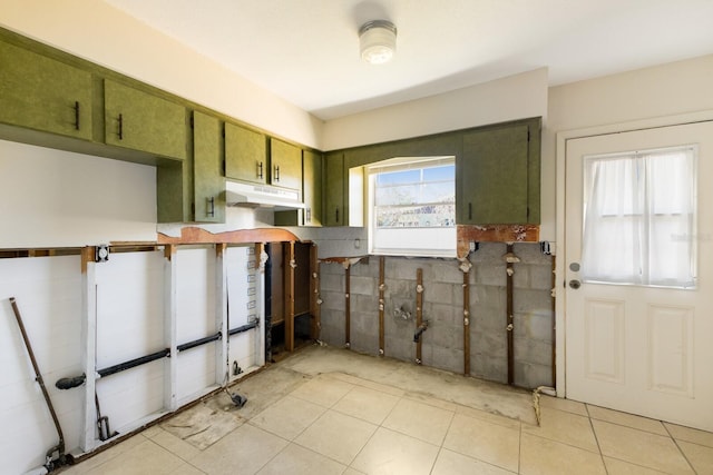
<svg viewBox="0 0 713 475">
<path fill-rule="evenodd" d="M 323 150 L 547 116 L 547 69 L 382 107 L 324 125 Z"/>
</svg>

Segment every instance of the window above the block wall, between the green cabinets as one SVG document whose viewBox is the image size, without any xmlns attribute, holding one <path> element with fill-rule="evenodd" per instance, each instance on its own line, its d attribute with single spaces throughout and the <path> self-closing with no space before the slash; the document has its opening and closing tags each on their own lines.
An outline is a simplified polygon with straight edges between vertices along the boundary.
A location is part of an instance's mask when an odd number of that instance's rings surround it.
<svg viewBox="0 0 713 475">
<path fill-rule="evenodd" d="M 455 157 L 395 158 L 367 174 L 372 254 L 456 255 Z"/>
</svg>

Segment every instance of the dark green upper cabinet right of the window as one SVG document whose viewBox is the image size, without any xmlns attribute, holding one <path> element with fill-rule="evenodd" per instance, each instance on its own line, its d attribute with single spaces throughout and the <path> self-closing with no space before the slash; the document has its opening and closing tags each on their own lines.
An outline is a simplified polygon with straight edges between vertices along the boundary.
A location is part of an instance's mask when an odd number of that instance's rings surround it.
<svg viewBox="0 0 713 475">
<path fill-rule="evenodd" d="M 463 133 L 456 177 L 459 225 L 538 224 L 539 119 Z"/>
</svg>

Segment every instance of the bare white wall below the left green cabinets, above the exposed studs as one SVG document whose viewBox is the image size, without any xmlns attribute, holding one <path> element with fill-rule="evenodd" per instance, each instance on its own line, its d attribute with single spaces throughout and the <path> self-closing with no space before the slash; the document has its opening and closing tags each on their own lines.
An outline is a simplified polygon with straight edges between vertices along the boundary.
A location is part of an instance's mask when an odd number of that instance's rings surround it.
<svg viewBox="0 0 713 475">
<path fill-rule="evenodd" d="M 0 248 L 156 240 L 156 168 L 0 140 Z"/>
</svg>

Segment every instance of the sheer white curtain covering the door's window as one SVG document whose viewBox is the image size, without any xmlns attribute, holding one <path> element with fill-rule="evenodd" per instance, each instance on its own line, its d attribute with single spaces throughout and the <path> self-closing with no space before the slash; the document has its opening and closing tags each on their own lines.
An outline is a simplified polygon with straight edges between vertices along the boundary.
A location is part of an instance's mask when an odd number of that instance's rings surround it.
<svg viewBox="0 0 713 475">
<path fill-rule="evenodd" d="M 585 280 L 695 285 L 694 146 L 584 159 Z"/>
</svg>

